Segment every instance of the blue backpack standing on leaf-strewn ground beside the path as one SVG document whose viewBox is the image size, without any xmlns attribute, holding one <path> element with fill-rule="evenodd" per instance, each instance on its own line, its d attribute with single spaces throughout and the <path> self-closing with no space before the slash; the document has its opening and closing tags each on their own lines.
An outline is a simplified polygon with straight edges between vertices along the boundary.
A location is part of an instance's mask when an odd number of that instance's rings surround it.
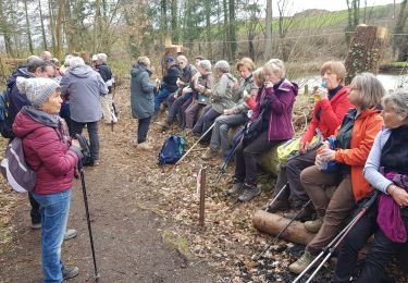
<svg viewBox="0 0 408 283">
<path fill-rule="evenodd" d="M 171 135 L 164 142 L 158 156 L 158 163 L 175 164 L 186 151 L 186 140 L 178 135 Z"/>
</svg>

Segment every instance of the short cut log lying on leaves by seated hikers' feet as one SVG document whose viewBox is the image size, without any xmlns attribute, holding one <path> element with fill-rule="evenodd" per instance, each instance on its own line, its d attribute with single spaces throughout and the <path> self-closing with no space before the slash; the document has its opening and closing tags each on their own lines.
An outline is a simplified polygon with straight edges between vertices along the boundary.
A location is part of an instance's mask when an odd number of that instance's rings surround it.
<svg viewBox="0 0 408 283">
<path fill-rule="evenodd" d="M 252 224 L 256 229 L 267 234 L 276 236 L 289 223 L 289 219 L 279 214 L 258 210 L 252 216 Z M 307 245 L 316 234 L 308 232 L 304 223 L 294 221 L 281 235 L 281 238 L 296 244 Z"/>
</svg>

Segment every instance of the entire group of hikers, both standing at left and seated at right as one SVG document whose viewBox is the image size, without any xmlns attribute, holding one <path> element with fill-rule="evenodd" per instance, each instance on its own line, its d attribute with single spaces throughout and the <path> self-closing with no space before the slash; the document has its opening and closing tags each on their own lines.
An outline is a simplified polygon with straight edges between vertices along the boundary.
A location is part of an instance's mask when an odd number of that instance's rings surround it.
<svg viewBox="0 0 408 283">
<path fill-rule="evenodd" d="M 22 138 L 26 162 L 36 172 L 28 195 L 32 227 L 41 229 L 45 282 L 62 282 L 78 273 L 61 261 L 62 242 L 76 236 L 75 230 L 66 230 L 70 192 L 83 159 L 73 137 L 86 126 L 90 165 L 98 165 L 98 122 L 102 114 L 106 123 L 116 122 L 107 56 L 92 56 L 92 66 L 87 60 L 67 54 L 60 65 L 45 51 L 29 57 L 8 84 L 12 135 Z M 256 69 L 251 59 L 243 58 L 236 63 L 240 79 L 224 60 L 212 66 L 210 60 L 196 57 L 189 64 L 182 54 L 168 56 L 164 62 L 159 88 L 148 57 L 139 57 L 132 67 L 131 106 L 138 123 L 135 146 L 152 149 L 148 130 L 165 102 L 160 128 L 168 131 L 178 123 L 185 135 L 209 144 L 203 160 L 233 153 L 235 173 L 226 194 L 242 202 L 259 196 L 257 159 L 294 137 L 292 112 L 298 86 L 285 78 L 284 62 L 271 59 Z M 323 84 L 314 94 L 312 120 L 298 153 L 280 165 L 275 201 L 267 210 L 306 221 L 305 229 L 316 233 L 304 255 L 289 266 L 292 272 L 301 273 L 378 192 L 374 205 L 347 234 L 332 282 L 349 282 L 358 253 L 371 235 L 374 241 L 358 282 L 380 282 L 407 242 L 408 91 L 386 94 L 370 73 L 356 75 L 345 86 L 346 69 L 339 61 L 325 62 L 320 71 Z M 228 132 L 237 126 L 242 130 L 231 142 Z M 316 136 L 325 142 L 311 146 Z"/>
</svg>

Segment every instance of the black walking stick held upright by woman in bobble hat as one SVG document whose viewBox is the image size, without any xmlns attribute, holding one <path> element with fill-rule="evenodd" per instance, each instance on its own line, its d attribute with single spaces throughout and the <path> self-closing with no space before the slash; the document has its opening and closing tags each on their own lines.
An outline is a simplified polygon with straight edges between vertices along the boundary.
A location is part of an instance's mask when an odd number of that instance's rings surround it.
<svg viewBox="0 0 408 283">
<path fill-rule="evenodd" d="M 79 134 L 76 135 L 76 138 L 79 142 L 82 152 L 85 156 L 89 156 L 89 146 L 87 140 Z M 88 208 L 88 196 L 86 194 L 86 185 L 85 185 L 85 175 L 84 175 L 84 164 L 83 160 L 81 159 L 78 162 L 78 170 L 79 170 L 79 176 L 81 176 L 81 184 L 82 184 L 82 189 L 83 189 L 83 195 L 84 195 L 84 205 L 85 205 L 85 212 L 86 212 L 86 221 L 88 224 L 88 234 L 89 234 L 89 242 L 90 242 L 90 249 L 92 251 L 92 259 L 94 259 L 94 270 L 95 270 L 95 281 L 98 281 L 99 279 L 99 273 L 98 273 L 98 268 L 97 268 L 97 260 L 95 256 L 95 247 L 94 247 L 94 236 L 92 236 L 92 229 L 90 226 L 90 214 L 89 214 L 89 208 Z"/>
</svg>

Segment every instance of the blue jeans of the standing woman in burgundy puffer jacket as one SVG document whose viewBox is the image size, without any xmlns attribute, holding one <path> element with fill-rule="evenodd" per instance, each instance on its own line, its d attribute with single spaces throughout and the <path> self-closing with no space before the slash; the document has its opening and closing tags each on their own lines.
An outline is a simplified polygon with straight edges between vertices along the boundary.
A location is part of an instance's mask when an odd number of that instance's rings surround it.
<svg viewBox="0 0 408 283">
<path fill-rule="evenodd" d="M 44 283 L 62 282 L 61 245 L 70 212 L 71 189 L 50 195 L 33 194 L 41 214 Z"/>
</svg>

